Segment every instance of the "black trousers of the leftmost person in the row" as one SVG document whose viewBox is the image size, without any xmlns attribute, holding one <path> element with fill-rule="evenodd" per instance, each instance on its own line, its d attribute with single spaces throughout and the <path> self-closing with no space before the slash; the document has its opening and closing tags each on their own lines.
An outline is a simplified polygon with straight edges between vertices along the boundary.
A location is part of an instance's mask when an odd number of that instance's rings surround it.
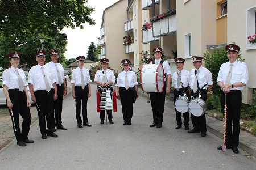
<svg viewBox="0 0 256 170">
<path fill-rule="evenodd" d="M 27 87 L 25 87 L 27 88 Z M 14 134 L 17 141 L 24 141 L 28 139 L 28 133 L 30 131 L 30 123 L 31 123 L 31 114 L 30 108 L 27 107 L 27 97 L 25 91 L 18 91 L 18 90 L 8 90 L 9 97 L 11 103 L 13 103 L 13 118 L 14 118 L 14 125 L 15 129 Z M 7 100 L 6 100 L 7 104 Z M 9 109 L 9 113 L 11 115 L 11 111 Z M 22 116 L 22 131 L 19 128 L 19 114 Z"/>
</svg>

